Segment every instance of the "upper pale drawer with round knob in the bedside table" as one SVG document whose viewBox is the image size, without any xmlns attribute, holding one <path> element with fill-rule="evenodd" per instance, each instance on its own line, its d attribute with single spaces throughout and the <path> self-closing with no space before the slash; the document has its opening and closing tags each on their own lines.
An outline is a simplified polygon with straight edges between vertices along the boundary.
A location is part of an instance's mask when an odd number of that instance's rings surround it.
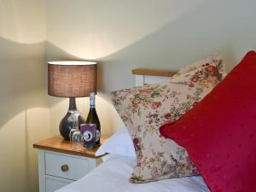
<svg viewBox="0 0 256 192">
<path fill-rule="evenodd" d="M 45 173 L 50 176 L 78 180 L 89 172 L 88 163 L 82 158 L 45 153 Z"/>
</svg>

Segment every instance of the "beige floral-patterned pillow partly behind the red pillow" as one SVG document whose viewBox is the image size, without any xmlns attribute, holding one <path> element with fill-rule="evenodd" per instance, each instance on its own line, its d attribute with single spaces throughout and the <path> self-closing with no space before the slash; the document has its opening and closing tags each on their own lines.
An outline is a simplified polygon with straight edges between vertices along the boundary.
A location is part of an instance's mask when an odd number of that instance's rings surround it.
<svg viewBox="0 0 256 192">
<path fill-rule="evenodd" d="M 226 75 L 219 56 L 183 69 L 170 80 L 112 93 L 113 104 L 131 134 L 137 166 L 130 181 L 146 183 L 198 174 L 186 150 L 160 136 L 159 127 L 173 122 L 206 96 Z"/>
</svg>

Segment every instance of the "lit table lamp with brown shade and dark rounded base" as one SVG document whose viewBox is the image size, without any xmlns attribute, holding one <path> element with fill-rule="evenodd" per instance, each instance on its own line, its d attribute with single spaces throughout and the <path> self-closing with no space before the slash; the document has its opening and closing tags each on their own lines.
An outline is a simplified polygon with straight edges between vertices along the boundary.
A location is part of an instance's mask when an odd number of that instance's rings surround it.
<svg viewBox="0 0 256 192">
<path fill-rule="evenodd" d="M 96 62 L 50 61 L 48 62 L 48 94 L 69 98 L 67 114 L 61 119 L 61 136 L 69 140 L 73 128 L 73 114 L 79 117 L 79 127 L 85 120 L 76 106 L 76 97 L 90 96 L 96 92 Z"/>
</svg>

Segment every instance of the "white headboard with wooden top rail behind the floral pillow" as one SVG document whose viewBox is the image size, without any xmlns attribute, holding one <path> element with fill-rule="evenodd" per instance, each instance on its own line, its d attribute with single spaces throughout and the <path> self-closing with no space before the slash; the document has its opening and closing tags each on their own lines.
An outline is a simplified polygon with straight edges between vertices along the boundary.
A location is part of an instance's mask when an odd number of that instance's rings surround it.
<svg viewBox="0 0 256 192">
<path fill-rule="evenodd" d="M 132 69 L 131 74 L 135 75 L 135 85 L 155 84 L 172 77 L 176 71 L 157 69 Z"/>
</svg>

